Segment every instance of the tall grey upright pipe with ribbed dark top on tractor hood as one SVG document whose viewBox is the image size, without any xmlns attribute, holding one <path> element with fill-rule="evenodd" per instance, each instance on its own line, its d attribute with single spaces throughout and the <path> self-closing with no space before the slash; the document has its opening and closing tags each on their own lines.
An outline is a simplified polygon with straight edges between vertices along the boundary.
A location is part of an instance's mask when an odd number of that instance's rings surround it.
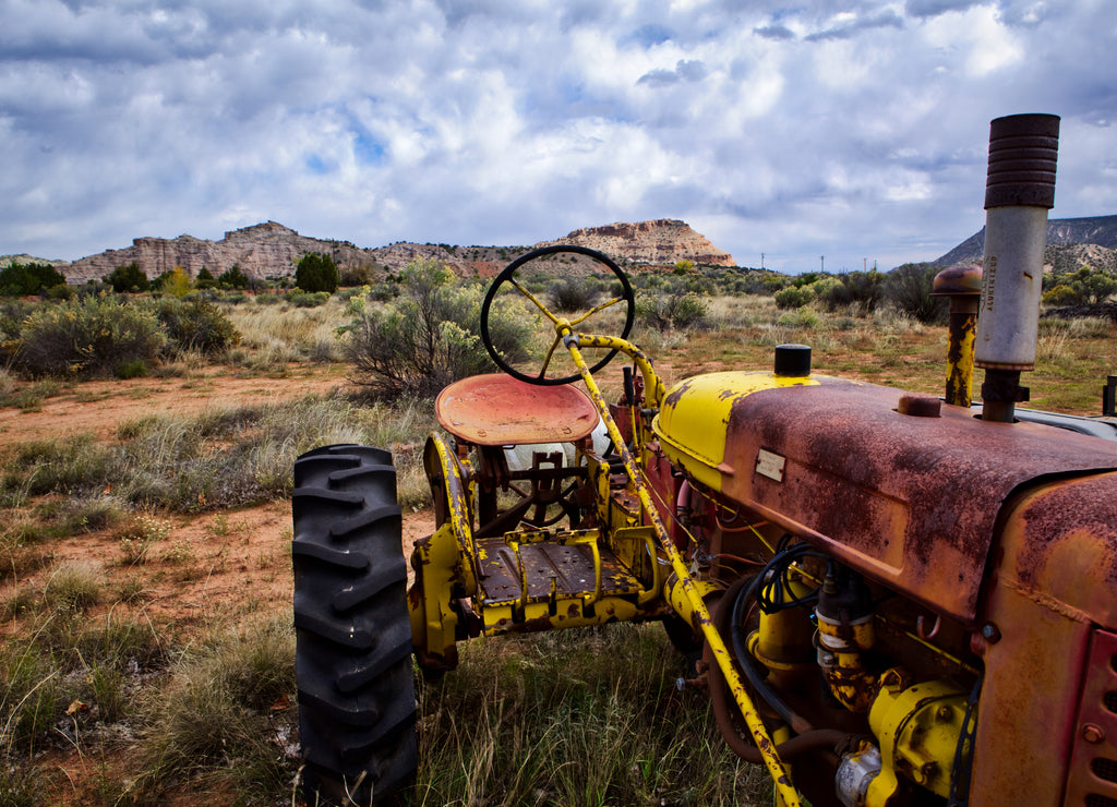
<svg viewBox="0 0 1117 807">
<path fill-rule="evenodd" d="M 1047 215 L 1054 206 L 1057 115 L 1010 115 L 990 124 L 985 257 L 975 364 L 985 369 L 982 419 L 1011 423 L 1035 367 Z"/>
</svg>

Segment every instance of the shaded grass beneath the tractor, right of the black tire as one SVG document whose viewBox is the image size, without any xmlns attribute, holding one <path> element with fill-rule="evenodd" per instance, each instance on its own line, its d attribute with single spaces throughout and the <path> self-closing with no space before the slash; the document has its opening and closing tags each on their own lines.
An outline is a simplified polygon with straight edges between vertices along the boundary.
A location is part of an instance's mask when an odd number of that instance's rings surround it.
<svg viewBox="0 0 1117 807">
<path fill-rule="evenodd" d="M 432 804 L 753 804 L 770 789 L 678 692 L 659 625 L 475 641 L 420 690 L 418 782 Z"/>
</svg>

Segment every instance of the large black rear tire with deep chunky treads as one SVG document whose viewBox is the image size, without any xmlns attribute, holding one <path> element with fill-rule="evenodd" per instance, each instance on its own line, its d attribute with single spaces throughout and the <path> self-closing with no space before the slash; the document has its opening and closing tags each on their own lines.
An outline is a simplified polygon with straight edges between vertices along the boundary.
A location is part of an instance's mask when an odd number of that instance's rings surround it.
<svg viewBox="0 0 1117 807">
<path fill-rule="evenodd" d="M 367 806 L 407 786 L 418 761 L 392 455 L 360 445 L 303 454 L 293 512 L 304 795 Z"/>
</svg>

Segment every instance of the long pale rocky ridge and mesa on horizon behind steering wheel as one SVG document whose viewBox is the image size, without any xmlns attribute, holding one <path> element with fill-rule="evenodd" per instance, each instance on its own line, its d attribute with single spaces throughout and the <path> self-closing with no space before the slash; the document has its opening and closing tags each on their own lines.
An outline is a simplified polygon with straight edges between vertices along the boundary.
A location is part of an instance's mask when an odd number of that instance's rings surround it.
<svg viewBox="0 0 1117 807">
<path fill-rule="evenodd" d="M 535 246 L 573 243 L 604 251 L 628 263 L 670 266 L 679 260 L 714 266 L 734 266 L 733 256 L 719 250 L 686 222 L 658 219 L 637 223 L 614 223 L 574 230 L 557 241 Z M 457 273 L 491 277 L 531 247 L 455 247 L 400 241 L 386 247 L 362 249 L 349 241 L 327 241 L 298 234 L 268 221 L 225 233 L 220 241 L 192 236 L 175 239 L 137 238 L 131 247 L 113 249 L 63 263 L 59 270 L 71 284 L 97 280 L 118 266 L 135 261 L 150 278 L 179 266 L 195 277 L 202 267 L 214 276 L 233 265 L 251 278 L 287 277 L 307 252 L 333 256 L 342 269 L 365 267 L 374 275 L 399 271 L 412 260 L 432 259 L 448 263 Z"/>
</svg>

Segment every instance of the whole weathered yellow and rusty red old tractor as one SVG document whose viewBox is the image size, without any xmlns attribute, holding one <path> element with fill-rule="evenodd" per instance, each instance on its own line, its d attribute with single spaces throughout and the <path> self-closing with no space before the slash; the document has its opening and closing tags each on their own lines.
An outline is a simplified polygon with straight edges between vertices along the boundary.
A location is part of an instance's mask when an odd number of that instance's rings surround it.
<svg viewBox="0 0 1117 807">
<path fill-rule="evenodd" d="M 992 122 L 982 267 L 937 281 L 943 398 L 815 374 L 803 345 L 667 388 L 628 340 L 614 261 L 557 246 L 508 265 L 481 317 L 503 373 L 436 402 L 436 530 L 410 587 L 391 454 L 295 464 L 306 792 L 367 804 L 403 786 L 414 666 L 454 670 L 459 642 L 661 621 L 776 804 L 1117 805 L 1117 434 L 1018 406 L 1058 126 Z M 615 294 L 560 316 L 523 280 L 548 256 L 599 261 Z M 553 326 L 535 367 L 491 346 L 506 295 Z M 589 333 L 607 311 L 620 335 Z M 617 355 L 630 366 L 608 400 L 595 374 Z"/>
</svg>

